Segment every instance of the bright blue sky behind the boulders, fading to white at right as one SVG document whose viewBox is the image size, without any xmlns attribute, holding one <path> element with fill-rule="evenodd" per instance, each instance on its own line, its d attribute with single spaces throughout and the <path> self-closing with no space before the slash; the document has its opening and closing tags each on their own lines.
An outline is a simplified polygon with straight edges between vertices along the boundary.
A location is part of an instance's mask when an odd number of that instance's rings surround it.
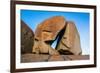
<svg viewBox="0 0 100 73">
<path fill-rule="evenodd" d="M 37 25 L 47 18 L 53 16 L 63 16 L 67 21 L 73 21 L 80 34 L 82 54 L 89 54 L 90 35 L 89 35 L 89 13 L 84 12 L 56 12 L 56 11 L 39 11 L 39 10 L 21 10 L 21 19 L 35 31 Z M 56 44 L 53 43 L 54 48 Z"/>
</svg>

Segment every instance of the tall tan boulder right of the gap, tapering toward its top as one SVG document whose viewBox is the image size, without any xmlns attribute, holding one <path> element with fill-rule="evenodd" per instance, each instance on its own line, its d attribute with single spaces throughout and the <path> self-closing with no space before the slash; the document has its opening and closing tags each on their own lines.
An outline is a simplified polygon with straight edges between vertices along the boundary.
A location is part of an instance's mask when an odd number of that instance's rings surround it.
<svg viewBox="0 0 100 73">
<path fill-rule="evenodd" d="M 66 22 L 64 35 L 56 49 L 62 54 L 81 54 L 80 36 L 73 22 Z"/>
</svg>

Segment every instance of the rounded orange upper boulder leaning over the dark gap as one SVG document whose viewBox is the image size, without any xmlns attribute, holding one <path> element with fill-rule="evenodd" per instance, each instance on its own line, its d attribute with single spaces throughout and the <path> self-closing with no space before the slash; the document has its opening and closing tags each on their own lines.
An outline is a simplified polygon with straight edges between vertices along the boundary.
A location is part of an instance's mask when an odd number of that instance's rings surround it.
<svg viewBox="0 0 100 73">
<path fill-rule="evenodd" d="M 62 16 L 51 17 L 37 26 L 35 39 L 42 41 L 55 40 L 58 33 L 65 26 L 65 19 Z"/>
</svg>

